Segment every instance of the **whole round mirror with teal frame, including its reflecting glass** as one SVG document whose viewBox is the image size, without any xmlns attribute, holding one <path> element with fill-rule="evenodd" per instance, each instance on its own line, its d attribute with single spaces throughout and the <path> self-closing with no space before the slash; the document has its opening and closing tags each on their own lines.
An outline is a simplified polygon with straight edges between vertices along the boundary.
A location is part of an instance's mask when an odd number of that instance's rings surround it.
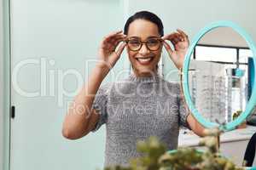
<svg viewBox="0 0 256 170">
<path fill-rule="evenodd" d="M 183 94 L 205 127 L 236 128 L 253 111 L 255 46 L 230 21 L 205 27 L 189 47 L 183 65 Z"/>
</svg>

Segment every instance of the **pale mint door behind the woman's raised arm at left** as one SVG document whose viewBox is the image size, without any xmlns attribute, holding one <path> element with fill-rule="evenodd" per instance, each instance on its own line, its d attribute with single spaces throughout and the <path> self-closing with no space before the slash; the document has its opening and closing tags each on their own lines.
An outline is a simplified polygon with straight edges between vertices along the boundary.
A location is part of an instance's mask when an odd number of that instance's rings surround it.
<svg viewBox="0 0 256 170">
<path fill-rule="evenodd" d="M 68 140 L 61 126 L 102 37 L 123 24 L 119 1 L 10 1 L 10 169 L 101 168 L 105 128 Z M 120 59 L 115 69 L 123 67 Z"/>
</svg>

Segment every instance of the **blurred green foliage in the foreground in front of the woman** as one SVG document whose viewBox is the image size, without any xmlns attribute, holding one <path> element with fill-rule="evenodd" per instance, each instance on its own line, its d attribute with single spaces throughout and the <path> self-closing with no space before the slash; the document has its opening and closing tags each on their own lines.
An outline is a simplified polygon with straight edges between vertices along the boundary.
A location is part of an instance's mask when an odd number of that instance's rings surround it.
<svg viewBox="0 0 256 170">
<path fill-rule="evenodd" d="M 194 148 L 178 148 L 167 151 L 155 137 L 146 141 L 138 141 L 137 151 L 143 156 L 131 160 L 129 167 L 105 167 L 104 170 L 240 170 L 236 165 L 221 156 L 217 149 L 218 129 L 207 129 L 207 137 L 200 144 L 207 150 L 199 151 Z"/>
</svg>

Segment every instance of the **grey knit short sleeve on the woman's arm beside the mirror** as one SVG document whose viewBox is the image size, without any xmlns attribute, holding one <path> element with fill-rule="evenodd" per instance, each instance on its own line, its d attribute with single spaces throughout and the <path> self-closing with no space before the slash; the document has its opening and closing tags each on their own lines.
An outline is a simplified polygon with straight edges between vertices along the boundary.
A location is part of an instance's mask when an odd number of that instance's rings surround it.
<svg viewBox="0 0 256 170">
<path fill-rule="evenodd" d="M 189 116 L 189 108 L 183 98 L 183 94 L 180 88 L 180 84 L 177 84 L 177 105 L 178 105 L 178 114 L 179 114 L 179 124 L 183 127 L 189 127 L 189 123 L 187 122 L 187 118 Z"/>
</svg>

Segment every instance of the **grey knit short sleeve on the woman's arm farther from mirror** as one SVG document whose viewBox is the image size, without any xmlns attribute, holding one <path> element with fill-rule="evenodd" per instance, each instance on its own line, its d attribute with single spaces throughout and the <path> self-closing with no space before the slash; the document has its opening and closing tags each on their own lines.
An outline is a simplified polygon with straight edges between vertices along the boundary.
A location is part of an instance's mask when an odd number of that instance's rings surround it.
<svg viewBox="0 0 256 170">
<path fill-rule="evenodd" d="M 96 127 L 92 130 L 92 132 L 96 132 L 102 126 L 102 124 L 106 123 L 108 118 L 107 104 L 108 84 L 102 84 L 98 89 L 92 104 L 92 109 L 95 109 L 96 112 L 100 114 L 99 121 L 96 122 Z"/>
</svg>

